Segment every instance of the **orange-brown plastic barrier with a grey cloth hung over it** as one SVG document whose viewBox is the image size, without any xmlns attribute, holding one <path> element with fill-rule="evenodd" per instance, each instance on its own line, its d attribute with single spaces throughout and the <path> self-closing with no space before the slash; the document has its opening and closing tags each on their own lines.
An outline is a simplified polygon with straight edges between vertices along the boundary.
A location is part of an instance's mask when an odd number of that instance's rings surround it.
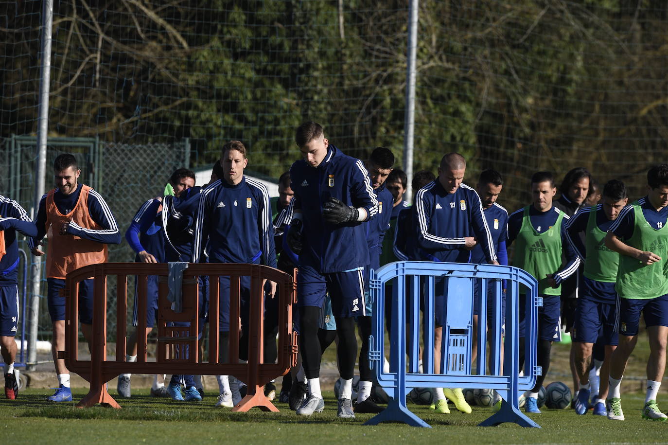
<svg viewBox="0 0 668 445">
<path fill-rule="evenodd" d="M 107 279 L 116 275 L 116 359 L 107 359 Z M 138 280 L 137 361 L 126 361 L 126 314 L 128 275 Z M 158 276 L 158 347 L 156 361 L 146 360 L 147 277 Z M 208 275 L 209 283 L 209 338 L 208 361 L 203 362 L 197 346 L 198 339 L 198 277 Z M 62 295 L 66 297 L 65 351 L 58 357 L 65 359 L 71 372 L 90 382 L 90 392 L 78 407 L 104 404 L 114 408 L 120 405 L 110 396 L 106 382 L 123 373 L 231 375 L 248 385 L 248 392 L 232 411 L 245 412 L 254 406 L 263 411 L 278 409 L 265 397 L 263 386 L 285 375 L 297 361 L 297 335 L 292 330 L 292 305 L 297 295 L 295 279 L 278 269 L 247 264 L 189 264 L 183 272 L 182 312 L 172 311 L 168 301 L 168 265 L 166 263 L 104 263 L 81 267 L 69 274 Z M 239 294 L 242 277 L 251 279 L 251 304 L 248 327 L 248 363 L 220 363 L 218 336 L 218 277 L 230 277 L 230 332 L 229 357 L 238 358 L 239 350 Z M 94 279 L 94 309 L 91 339 L 91 359 L 79 360 L 79 281 Z M 265 302 L 263 283 L 277 283 L 275 298 L 279 299 L 279 356 L 278 363 L 263 363 L 263 318 Z M 173 326 L 173 323 L 190 323 Z M 231 360 L 230 360 L 231 361 Z M 238 360 L 236 360 L 238 361 Z"/>
</svg>

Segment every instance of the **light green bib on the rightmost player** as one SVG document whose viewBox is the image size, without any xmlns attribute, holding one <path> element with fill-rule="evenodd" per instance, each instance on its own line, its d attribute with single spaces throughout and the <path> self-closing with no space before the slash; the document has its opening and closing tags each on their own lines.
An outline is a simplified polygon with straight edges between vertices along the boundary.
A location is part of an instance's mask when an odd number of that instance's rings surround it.
<svg viewBox="0 0 668 445">
<path fill-rule="evenodd" d="M 615 290 L 622 298 L 651 299 L 668 293 L 668 225 L 654 229 L 647 223 L 643 209 L 633 204 L 633 236 L 627 245 L 659 255 L 661 261 L 643 265 L 627 255 L 619 255 Z"/>
</svg>

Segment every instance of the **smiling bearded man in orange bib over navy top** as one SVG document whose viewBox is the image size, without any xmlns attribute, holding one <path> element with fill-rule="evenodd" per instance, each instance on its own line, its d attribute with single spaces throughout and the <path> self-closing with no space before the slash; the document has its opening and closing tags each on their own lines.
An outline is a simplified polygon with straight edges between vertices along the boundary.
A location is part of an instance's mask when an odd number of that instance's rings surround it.
<svg viewBox="0 0 668 445">
<path fill-rule="evenodd" d="M 53 323 L 51 352 L 59 387 L 49 397 L 52 402 L 69 402 L 69 372 L 65 360 L 57 351 L 65 348 L 65 297 L 59 290 L 65 287 L 67 273 L 107 261 L 107 245 L 119 244 L 121 236 L 116 219 L 98 192 L 79 182 L 81 170 L 71 154 L 61 154 L 53 162 L 55 186 L 42 196 L 37 210 L 37 236 L 29 240 L 33 255 L 44 252 L 37 247 L 46 235 L 48 239 L 46 277 L 47 302 Z M 90 342 L 93 323 L 93 279 L 79 283 L 79 320 L 81 332 Z"/>
</svg>

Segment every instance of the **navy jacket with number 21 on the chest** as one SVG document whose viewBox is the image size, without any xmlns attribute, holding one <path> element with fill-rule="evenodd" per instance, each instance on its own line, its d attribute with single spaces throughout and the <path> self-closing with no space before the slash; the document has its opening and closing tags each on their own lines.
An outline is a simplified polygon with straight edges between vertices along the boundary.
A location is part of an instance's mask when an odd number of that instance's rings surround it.
<svg viewBox="0 0 668 445">
<path fill-rule="evenodd" d="M 463 182 L 452 194 L 438 178 L 421 188 L 415 197 L 413 224 L 422 260 L 468 263 L 471 253 L 464 249 L 464 238 L 476 237 L 488 263 L 496 261 L 480 196 Z"/>
</svg>

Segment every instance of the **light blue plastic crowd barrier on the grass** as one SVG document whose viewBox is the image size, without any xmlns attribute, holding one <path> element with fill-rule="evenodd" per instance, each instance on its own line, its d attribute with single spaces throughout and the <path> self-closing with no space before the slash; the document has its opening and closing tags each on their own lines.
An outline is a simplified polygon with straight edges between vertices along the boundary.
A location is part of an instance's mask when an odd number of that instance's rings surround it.
<svg viewBox="0 0 668 445">
<path fill-rule="evenodd" d="M 494 280 L 494 281 L 490 281 Z M 507 283 L 505 339 L 502 338 L 502 281 Z M 389 337 L 390 369 L 383 372 L 385 352 L 385 283 L 391 282 L 392 332 Z M 477 282 L 477 283 L 476 283 Z M 518 376 L 519 361 L 519 287 L 526 291 L 526 349 L 524 376 Z M 471 363 L 473 338 L 474 293 L 479 292 L 478 314 L 488 313 L 488 286 L 494 295 L 492 323 L 478 317 L 478 359 L 474 373 Z M 387 408 L 365 424 L 405 422 L 411 426 L 429 427 L 406 406 L 406 396 L 413 388 L 480 388 L 496 390 L 504 402 L 496 414 L 480 426 L 496 426 L 514 422 L 520 426 L 537 427 L 518 407 L 518 391 L 536 384 L 541 369 L 536 366 L 538 282 L 526 271 L 510 266 L 472 265 L 401 261 L 389 263 L 371 275 L 373 298 L 373 331 L 370 337 L 369 360 L 379 385 L 391 398 Z M 434 372 L 434 295 L 446 295 L 444 303 L 441 347 L 442 372 Z M 426 374 L 418 372 L 420 351 L 420 298 L 424 304 L 424 354 Z M 486 354 L 489 339 L 490 357 Z M 503 372 L 501 346 L 504 344 Z M 490 363 L 490 372 L 486 371 Z"/>
</svg>

